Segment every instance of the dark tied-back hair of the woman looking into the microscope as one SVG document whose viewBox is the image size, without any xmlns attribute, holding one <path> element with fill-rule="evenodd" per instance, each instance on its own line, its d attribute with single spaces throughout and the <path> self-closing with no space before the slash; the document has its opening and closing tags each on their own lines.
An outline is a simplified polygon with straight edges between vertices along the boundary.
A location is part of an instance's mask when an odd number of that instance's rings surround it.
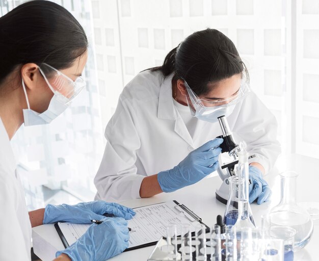
<svg viewBox="0 0 319 261">
<path fill-rule="evenodd" d="M 183 79 L 197 94 L 209 90 L 208 83 L 218 82 L 234 74 L 248 72 L 233 42 L 215 29 L 195 32 L 172 49 L 160 67 L 165 76 L 175 73 L 175 79 Z"/>
</svg>

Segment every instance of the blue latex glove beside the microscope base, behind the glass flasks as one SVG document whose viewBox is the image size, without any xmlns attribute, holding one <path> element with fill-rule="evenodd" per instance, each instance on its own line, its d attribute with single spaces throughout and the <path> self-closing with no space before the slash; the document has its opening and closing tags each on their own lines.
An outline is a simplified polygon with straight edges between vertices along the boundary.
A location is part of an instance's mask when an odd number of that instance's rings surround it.
<svg viewBox="0 0 319 261">
<path fill-rule="evenodd" d="M 249 166 L 249 203 L 257 199 L 257 204 L 261 204 L 270 199 L 272 191 L 266 180 L 262 177 L 262 172 L 254 166 Z"/>
</svg>

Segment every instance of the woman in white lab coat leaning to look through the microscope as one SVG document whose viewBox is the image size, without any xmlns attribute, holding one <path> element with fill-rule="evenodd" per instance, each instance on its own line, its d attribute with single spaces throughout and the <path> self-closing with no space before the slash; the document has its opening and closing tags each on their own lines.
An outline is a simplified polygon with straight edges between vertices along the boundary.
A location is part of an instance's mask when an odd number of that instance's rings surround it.
<svg viewBox="0 0 319 261">
<path fill-rule="evenodd" d="M 275 117 L 249 86 L 232 41 L 217 30 L 195 32 L 163 66 L 139 73 L 124 88 L 105 129 L 95 177 L 97 199 L 151 197 L 194 184 L 219 167 L 218 117 L 247 143 L 250 201 L 269 200 L 263 179 L 280 153 Z"/>
</svg>

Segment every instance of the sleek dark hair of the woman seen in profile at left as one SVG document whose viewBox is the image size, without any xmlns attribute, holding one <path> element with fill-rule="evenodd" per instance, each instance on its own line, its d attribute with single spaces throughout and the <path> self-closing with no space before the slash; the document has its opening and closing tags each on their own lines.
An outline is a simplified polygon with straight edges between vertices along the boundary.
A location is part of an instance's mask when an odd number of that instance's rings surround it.
<svg viewBox="0 0 319 261">
<path fill-rule="evenodd" d="M 68 68 L 87 48 L 87 36 L 69 11 L 49 1 L 26 2 L 0 17 L 0 83 L 25 63 Z"/>
</svg>

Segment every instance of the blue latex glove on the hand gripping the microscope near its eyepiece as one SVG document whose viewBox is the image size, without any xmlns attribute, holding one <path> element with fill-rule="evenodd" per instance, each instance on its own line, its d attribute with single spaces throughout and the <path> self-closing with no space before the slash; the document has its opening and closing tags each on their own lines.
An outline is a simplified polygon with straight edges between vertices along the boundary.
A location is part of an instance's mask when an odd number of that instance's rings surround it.
<svg viewBox="0 0 319 261">
<path fill-rule="evenodd" d="M 159 172 L 157 180 L 164 192 L 173 192 L 201 180 L 219 167 L 219 145 L 223 139 L 208 141 L 195 149 L 176 167 Z"/>
</svg>

